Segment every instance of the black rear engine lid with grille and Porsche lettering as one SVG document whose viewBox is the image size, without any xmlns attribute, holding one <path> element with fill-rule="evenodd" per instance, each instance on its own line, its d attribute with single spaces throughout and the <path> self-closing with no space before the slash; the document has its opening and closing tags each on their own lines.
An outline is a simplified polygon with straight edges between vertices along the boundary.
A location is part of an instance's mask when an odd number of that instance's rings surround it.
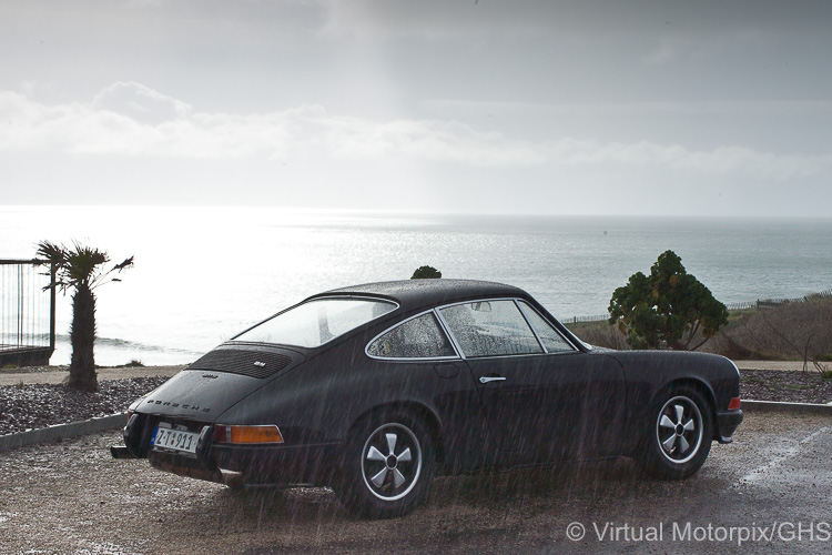
<svg viewBox="0 0 832 555">
<path fill-rule="evenodd" d="M 305 360 L 290 349 L 229 342 L 134 402 L 130 410 L 215 422 L 222 413 Z"/>
</svg>

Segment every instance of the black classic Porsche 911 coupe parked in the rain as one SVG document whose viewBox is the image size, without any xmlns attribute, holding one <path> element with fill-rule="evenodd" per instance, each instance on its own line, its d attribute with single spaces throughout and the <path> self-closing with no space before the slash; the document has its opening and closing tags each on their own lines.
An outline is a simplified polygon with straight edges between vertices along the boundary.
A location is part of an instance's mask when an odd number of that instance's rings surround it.
<svg viewBox="0 0 832 555">
<path fill-rule="evenodd" d="M 327 485 L 389 517 L 437 472 L 632 456 L 688 477 L 742 422 L 739 377 L 722 356 L 592 349 L 510 285 L 371 283 L 209 352 L 131 405 L 112 452 L 231 486 Z"/>
</svg>

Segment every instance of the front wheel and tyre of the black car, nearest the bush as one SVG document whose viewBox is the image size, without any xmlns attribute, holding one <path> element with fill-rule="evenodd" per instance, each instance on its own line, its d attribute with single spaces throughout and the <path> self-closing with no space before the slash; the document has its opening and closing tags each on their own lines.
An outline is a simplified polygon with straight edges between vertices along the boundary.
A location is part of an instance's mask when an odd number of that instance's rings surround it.
<svg viewBox="0 0 832 555">
<path fill-rule="evenodd" d="M 672 387 L 658 395 L 642 445 L 645 472 L 663 480 L 683 480 L 702 467 L 713 441 L 710 404 L 691 387 Z"/>
</svg>

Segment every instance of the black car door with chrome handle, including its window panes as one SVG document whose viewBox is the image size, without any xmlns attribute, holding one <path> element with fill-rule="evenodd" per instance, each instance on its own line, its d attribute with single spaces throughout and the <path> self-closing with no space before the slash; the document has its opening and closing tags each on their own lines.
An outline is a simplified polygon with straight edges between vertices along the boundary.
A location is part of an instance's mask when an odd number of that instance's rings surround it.
<svg viewBox="0 0 832 555">
<path fill-rule="evenodd" d="M 615 360 L 576 349 L 524 301 L 464 303 L 439 313 L 500 451 L 528 462 L 582 456 L 603 452 L 620 435 L 625 384 Z"/>
</svg>

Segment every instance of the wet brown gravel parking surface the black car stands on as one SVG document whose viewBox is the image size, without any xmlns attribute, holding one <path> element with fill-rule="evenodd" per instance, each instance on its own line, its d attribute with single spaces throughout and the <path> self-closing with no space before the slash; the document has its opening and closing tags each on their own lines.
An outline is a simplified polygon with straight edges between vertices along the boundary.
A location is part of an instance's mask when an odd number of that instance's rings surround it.
<svg viewBox="0 0 832 555">
<path fill-rule="evenodd" d="M 832 418 L 749 413 L 690 480 L 662 482 L 627 460 L 438 478 L 425 504 L 389 521 L 349 516 L 325 488 L 229 488 L 115 461 L 118 432 L 0 453 L 0 553 L 829 553 L 799 523 L 829 525 Z M 586 536 L 572 541 L 578 523 Z M 661 541 L 598 539 L 593 525 L 662 525 Z M 769 528 L 771 541 L 680 539 L 674 524 Z M 571 527 L 570 527 L 571 526 Z M 714 535 L 719 537 L 719 535 Z"/>
</svg>

